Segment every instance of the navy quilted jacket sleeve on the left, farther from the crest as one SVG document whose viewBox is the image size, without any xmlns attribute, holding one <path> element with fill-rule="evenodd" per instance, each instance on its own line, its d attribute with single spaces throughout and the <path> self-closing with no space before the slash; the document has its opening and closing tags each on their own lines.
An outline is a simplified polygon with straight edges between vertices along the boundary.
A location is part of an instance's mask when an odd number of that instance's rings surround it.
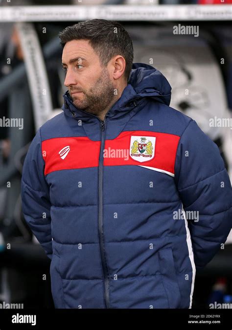
<svg viewBox="0 0 232 330">
<path fill-rule="evenodd" d="M 48 258 L 52 258 L 49 187 L 44 176 L 40 129 L 30 144 L 23 164 L 21 181 L 22 209 L 31 228 Z"/>
</svg>

